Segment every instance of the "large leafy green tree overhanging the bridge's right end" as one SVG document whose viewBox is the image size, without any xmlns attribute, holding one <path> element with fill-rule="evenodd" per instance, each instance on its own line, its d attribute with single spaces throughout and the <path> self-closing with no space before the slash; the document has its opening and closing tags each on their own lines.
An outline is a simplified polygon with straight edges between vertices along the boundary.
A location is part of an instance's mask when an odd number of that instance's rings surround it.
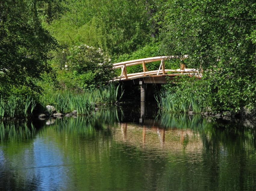
<svg viewBox="0 0 256 191">
<path fill-rule="evenodd" d="M 208 92 L 213 109 L 254 108 L 255 1 L 175 0 L 165 7 L 161 52 L 188 54 L 187 67 L 203 69 L 198 90 Z"/>
</svg>

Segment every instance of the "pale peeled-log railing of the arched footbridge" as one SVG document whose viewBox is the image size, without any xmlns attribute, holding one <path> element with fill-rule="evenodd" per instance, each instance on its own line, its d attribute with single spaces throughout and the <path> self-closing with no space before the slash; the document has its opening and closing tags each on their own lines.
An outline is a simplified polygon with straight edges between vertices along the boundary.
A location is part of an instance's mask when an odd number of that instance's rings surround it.
<svg viewBox="0 0 256 191">
<path fill-rule="evenodd" d="M 141 76 L 166 75 L 167 72 L 178 72 L 178 73 L 172 73 L 171 74 L 172 76 L 176 76 L 176 75 L 178 76 L 178 75 L 181 75 L 183 73 L 184 74 L 185 73 L 190 74 L 190 75 L 195 75 L 195 73 L 197 73 L 197 75 L 199 75 L 198 70 L 187 69 L 187 68 L 184 67 L 184 64 L 181 64 L 180 69 L 176 69 L 176 70 L 165 69 L 164 61 L 166 59 L 169 59 L 169 58 L 180 58 L 182 60 L 182 59 L 188 58 L 188 55 L 184 55 L 183 57 L 179 57 L 179 56 L 158 56 L 158 57 L 142 58 L 142 59 L 137 59 L 137 60 L 130 60 L 130 61 L 115 63 L 115 64 L 113 64 L 113 69 L 121 68 L 121 75 L 115 77 L 113 79 L 113 81 L 133 79 L 133 78 L 137 78 L 137 77 L 141 77 Z M 148 71 L 148 69 L 146 67 L 146 63 L 155 62 L 155 61 L 161 61 L 159 69 L 158 70 L 153 70 L 153 71 Z M 127 73 L 126 67 L 134 66 L 134 65 L 138 65 L 138 64 L 142 64 L 143 72 L 132 73 L 132 74 Z"/>
</svg>

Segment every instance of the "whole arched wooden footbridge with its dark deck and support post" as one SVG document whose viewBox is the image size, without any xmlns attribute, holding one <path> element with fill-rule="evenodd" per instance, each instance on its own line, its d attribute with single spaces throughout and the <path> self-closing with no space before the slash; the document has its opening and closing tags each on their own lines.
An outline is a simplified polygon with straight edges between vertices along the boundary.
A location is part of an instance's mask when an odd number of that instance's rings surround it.
<svg viewBox="0 0 256 191">
<path fill-rule="evenodd" d="M 180 64 L 179 69 L 171 70 L 166 69 L 164 61 L 169 58 L 180 58 L 181 61 L 186 59 L 188 55 L 184 57 L 179 56 L 158 56 L 152 58 L 142 58 L 137 60 L 124 61 L 113 64 L 113 69 L 121 68 L 120 76 L 117 76 L 113 81 L 119 81 L 123 84 L 140 85 L 141 86 L 141 101 L 145 101 L 146 84 L 164 84 L 168 81 L 174 81 L 176 76 L 195 76 L 201 78 L 201 73 L 197 69 L 188 69 L 184 64 Z M 161 61 L 158 70 L 148 71 L 146 67 L 147 63 Z M 128 74 L 126 67 L 142 64 L 143 72 Z"/>
</svg>

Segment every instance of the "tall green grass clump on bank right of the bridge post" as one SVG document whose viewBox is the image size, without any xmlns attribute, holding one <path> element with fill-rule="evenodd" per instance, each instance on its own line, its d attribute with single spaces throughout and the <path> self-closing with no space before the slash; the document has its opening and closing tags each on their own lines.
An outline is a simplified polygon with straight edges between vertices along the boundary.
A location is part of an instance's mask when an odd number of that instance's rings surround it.
<svg viewBox="0 0 256 191">
<path fill-rule="evenodd" d="M 182 96 L 172 92 L 161 92 L 156 97 L 158 107 L 164 112 L 186 113 L 190 110 L 200 113 L 203 109 L 199 100 L 191 96 Z"/>
</svg>

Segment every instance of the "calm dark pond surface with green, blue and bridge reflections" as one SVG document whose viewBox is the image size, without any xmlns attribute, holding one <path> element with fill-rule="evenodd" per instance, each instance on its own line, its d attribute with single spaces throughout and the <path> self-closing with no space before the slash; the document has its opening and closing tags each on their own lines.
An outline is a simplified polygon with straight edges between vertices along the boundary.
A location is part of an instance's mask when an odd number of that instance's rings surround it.
<svg viewBox="0 0 256 191">
<path fill-rule="evenodd" d="M 149 108 L 0 122 L 0 190 L 256 190 L 251 124 Z"/>
</svg>

